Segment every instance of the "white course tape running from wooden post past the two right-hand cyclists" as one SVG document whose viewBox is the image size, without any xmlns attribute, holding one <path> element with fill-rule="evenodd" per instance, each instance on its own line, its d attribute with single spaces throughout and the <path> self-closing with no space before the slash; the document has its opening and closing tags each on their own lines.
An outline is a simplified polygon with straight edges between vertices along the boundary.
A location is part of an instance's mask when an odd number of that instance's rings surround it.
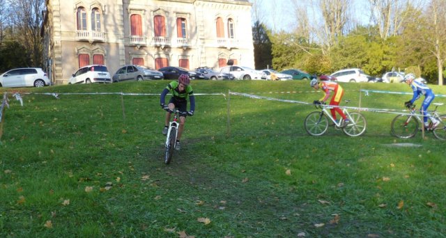
<svg viewBox="0 0 446 238">
<path fill-rule="evenodd" d="M 263 99 L 263 100 L 271 100 L 271 101 L 278 101 L 278 102 L 291 102 L 291 103 L 295 103 L 295 104 L 305 104 L 305 105 L 314 105 L 313 103 L 310 102 L 300 102 L 300 101 L 295 101 L 295 100 L 281 100 L 278 98 L 274 98 L 274 97 L 264 97 L 264 96 L 259 96 L 259 95 L 252 95 L 252 94 L 248 94 L 248 93 L 236 93 L 236 92 L 229 92 L 229 95 L 239 95 L 239 96 L 243 96 L 243 97 L 249 97 L 249 98 L 254 98 L 254 99 Z M 355 111 L 370 111 L 370 112 L 376 112 L 376 113 L 390 113 L 390 114 L 397 114 L 397 115 L 413 115 L 410 114 L 411 110 L 399 110 L 399 109 L 371 109 L 371 108 L 367 108 L 367 107 L 356 107 L 356 106 L 332 106 L 332 105 L 324 105 L 321 104 L 321 106 L 323 107 L 327 107 L 328 109 L 332 109 L 332 108 L 339 108 L 339 109 L 352 109 Z M 417 110 L 419 112 L 421 112 L 420 110 Z M 431 111 L 428 111 L 428 113 Z M 441 115 L 442 113 L 438 112 L 438 115 Z"/>
</svg>

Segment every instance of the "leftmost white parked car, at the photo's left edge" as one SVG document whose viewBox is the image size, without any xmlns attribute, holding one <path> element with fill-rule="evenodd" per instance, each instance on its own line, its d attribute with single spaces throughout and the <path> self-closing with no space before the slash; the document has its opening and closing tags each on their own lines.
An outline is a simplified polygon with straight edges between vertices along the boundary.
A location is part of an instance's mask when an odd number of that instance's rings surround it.
<svg viewBox="0 0 446 238">
<path fill-rule="evenodd" d="M 43 87 L 50 84 L 41 68 L 18 68 L 0 75 L 0 87 Z"/>
</svg>

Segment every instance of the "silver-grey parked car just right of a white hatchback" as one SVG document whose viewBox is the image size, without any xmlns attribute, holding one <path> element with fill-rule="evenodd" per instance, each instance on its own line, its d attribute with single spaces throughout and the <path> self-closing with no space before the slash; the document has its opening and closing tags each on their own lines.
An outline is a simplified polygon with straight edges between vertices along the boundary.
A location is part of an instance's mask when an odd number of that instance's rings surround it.
<svg viewBox="0 0 446 238">
<path fill-rule="evenodd" d="M 160 71 L 153 70 L 141 65 L 125 65 L 113 75 L 113 81 L 136 80 L 143 81 L 149 79 L 162 79 L 163 74 Z"/>
</svg>

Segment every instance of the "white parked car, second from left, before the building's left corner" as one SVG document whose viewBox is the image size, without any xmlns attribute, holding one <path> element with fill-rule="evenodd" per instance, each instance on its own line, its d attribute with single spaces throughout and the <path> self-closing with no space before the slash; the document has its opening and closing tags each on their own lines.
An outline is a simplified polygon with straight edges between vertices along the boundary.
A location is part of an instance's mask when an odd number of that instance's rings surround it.
<svg viewBox="0 0 446 238">
<path fill-rule="evenodd" d="M 68 84 L 112 83 L 109 71 L 105 65 L 87 65 L 79 68 Z"/>
</svg>

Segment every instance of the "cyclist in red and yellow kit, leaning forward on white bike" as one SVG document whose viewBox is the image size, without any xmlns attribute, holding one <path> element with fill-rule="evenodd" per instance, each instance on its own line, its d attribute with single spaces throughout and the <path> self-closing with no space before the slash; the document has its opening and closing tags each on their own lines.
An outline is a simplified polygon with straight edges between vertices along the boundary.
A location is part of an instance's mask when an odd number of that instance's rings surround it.
<svg viewBox="0 0 446 238">
<path fill-rule="evenodd" d="M 342 100 L 342 96 L 344 96 L 344 89 L 342 89 L 342 87 L 334 81 L 319 82 L 318 79 L 316 79 L 315 77 L 312 79 L 312 81 L 310 81 L 309 84 L 315 90 L 321 88 L 324 93 L 324 96 L 320 100 L 315 100 L 313 102 L 314 104 L 325 104 L 325 101 L 328 100 L 328 97 L 330 97 L 331 92 L 333 92 L 333 96 L 329 104 L 330 106 L 335 106 L 334 108 L 330 109 L 332 117 L 334 120 L 336 120 L 336 112 L 339 113 L 339 116 L 341 116 L 342 120 L 344 121 L 342 127 L 345 127 L 350 121 L 348 120 L 348 118 L 346 118 L 346 115 L 342 112 L 342 110 L 339 107 L 337 107 L 339 106 L 339 103 Z"/>
</svg>

